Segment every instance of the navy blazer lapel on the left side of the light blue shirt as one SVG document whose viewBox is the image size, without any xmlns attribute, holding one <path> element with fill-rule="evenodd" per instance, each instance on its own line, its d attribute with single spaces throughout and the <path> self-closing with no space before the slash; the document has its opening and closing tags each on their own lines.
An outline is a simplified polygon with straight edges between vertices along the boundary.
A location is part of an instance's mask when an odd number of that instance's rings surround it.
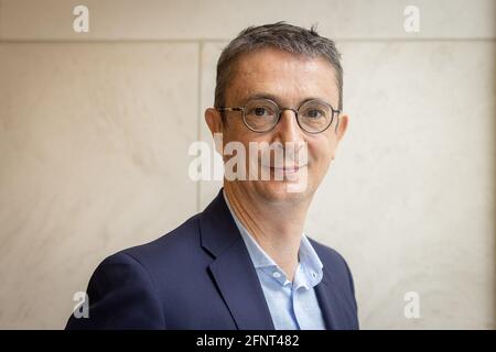
<svg viewBox="0 0 496 352">
<path fill-rule="evenodd" d="M 200 217 L 202 246 L 214 256 L 209 271 L 238 329 L 274 330 L 254 264 L 222 191 Z"/>
</svg>

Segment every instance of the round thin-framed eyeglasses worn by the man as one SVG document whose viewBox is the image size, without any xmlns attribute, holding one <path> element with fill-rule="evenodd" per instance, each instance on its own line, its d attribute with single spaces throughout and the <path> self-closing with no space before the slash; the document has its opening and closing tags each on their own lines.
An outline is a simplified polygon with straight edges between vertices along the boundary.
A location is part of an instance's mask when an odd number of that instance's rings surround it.
<svg viewBox="0 0 496 352">
<path fill-rule="evenodd" d="M 244 107 L 216 108 L 218 111 L 241 111 L 246 127 L 257 133 L 271 131 L 281 119 L 282 111 L 291 110 L 296 116 L 298 125 L 308 133 L 322 133 L 333 123 L 334 114 L 339 116 L 331 105 L 320 99 L 303 101 L 298 109 L 280 108 L 270 99 L 256 98 Z"/>
</svg>

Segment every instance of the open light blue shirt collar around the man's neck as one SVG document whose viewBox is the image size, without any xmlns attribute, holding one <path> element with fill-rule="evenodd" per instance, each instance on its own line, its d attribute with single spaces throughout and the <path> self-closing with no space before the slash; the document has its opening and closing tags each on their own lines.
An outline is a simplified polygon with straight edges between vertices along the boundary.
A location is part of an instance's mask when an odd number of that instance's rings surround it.
<svg viewBox="0 0 496 352">
<path fill-rule="evenodd" d="M 277 263 L 269 256 L 269 254 L 263 251 L 263 249 L 257 243 L 248 230 L 242 226 L 239 219 L 236 217 L 233 208 L 229 205 L 229 200 L 223 189 L 223 196 L 226 201 L 227 208 L 233 216 L 233 219 L 238 227 L 241 238 L 247 246 L 248 253 L 251 257 L 251 262 L 256 270 L 261 270 L 268 275 L 272 276 L 274 279 L 280 282 L 282 285 L 290 283 L 285 277 L 283 271 L 277 265 Z M 323 264 L 310 243 L 309 239 L 304 233 L 302 233 L 300 250 L 298 252 L 299 265 L 294 275 L 294 283 L 299 285 L 306 286 L 308 288 L 317 285 L 322 280 L 323 276 Z M 279 275 L 274 274 L 276 271 Z"/>
</svg>

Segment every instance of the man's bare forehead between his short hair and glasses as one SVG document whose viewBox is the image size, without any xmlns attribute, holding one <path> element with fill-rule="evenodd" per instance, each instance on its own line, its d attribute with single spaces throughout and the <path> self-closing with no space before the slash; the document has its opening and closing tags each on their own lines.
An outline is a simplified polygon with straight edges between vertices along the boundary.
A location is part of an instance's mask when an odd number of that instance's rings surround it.
<svg viewBox="0 0 496 352">
<path fill-rule="evenodd" d="M 258 50 L 238 58 L 226 98 L 239 102 L 259 94 L 287 105 L 315 97 L 334 105 L 338 99 L 335 69 L 323 57 Z"/>
</svg>

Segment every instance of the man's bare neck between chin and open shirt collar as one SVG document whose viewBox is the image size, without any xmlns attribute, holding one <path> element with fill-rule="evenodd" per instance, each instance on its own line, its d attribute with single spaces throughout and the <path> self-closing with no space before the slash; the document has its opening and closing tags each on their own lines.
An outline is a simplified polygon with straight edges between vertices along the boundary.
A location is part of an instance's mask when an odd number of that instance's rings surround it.
<svg viewBox="0 0 496 352">
<path fill-rule="evenodd" d="M 292 282 L 310 199 L 270 202 L 226 180 L 224 191 L 241 224 Z"/>
</svg>

